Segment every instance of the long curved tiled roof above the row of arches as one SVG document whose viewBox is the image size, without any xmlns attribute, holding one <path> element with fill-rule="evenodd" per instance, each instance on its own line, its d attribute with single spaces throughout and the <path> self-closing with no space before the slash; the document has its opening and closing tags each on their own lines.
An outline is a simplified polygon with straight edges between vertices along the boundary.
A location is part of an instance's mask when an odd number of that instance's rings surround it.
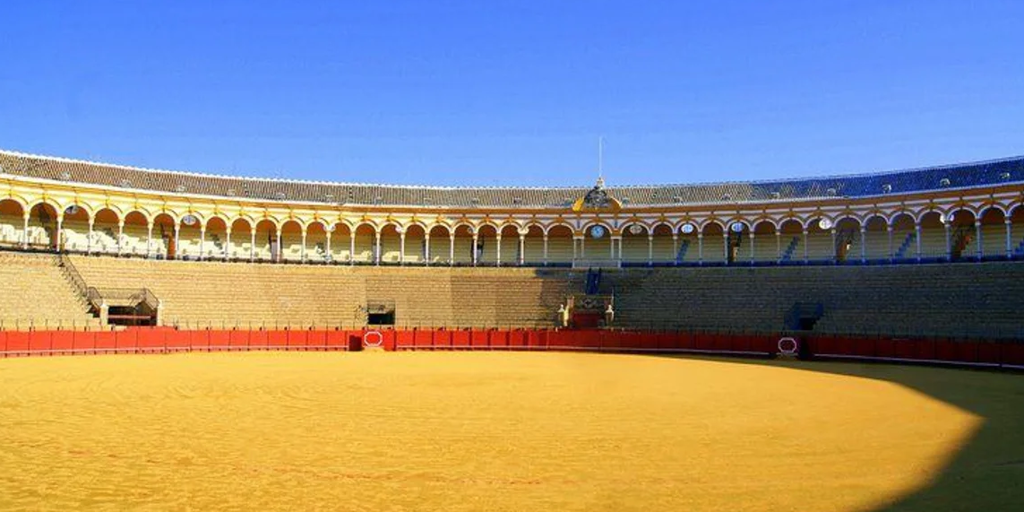
<svg viewBox="0 0 1024 512">
<path fill-rule="evenodd" d="M 160 171 L 0 151 L 0 172 L 58 181 L 335 205 L 567 207 L 590 187 L 437 187 L 329 183 Z M 871 174 L 734 183 L 611 186 L 624 206 L 869 197 L 1024 182 L 1024 157 Z"/>
</svg>

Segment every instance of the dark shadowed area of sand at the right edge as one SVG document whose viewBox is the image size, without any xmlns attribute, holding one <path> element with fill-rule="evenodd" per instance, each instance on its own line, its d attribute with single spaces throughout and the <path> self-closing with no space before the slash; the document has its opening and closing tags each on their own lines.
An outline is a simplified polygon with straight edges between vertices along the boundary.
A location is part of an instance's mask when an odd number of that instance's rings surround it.
<svg viewBox="0 0 1024 512">
<path fill-rule="evenodd" d="M 885 364 L 708 359 L 888 381 L 983 419 L 974 437 L 933 481 L 872 512 L 1024 510 L 1024 375 Z"/>
</svg>

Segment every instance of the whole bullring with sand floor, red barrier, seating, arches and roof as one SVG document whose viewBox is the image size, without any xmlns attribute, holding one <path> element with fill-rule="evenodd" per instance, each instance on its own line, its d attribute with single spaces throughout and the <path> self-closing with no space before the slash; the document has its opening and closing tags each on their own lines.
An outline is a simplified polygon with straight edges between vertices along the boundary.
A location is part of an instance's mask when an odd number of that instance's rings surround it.
<svg viewBox="0 0 1024 512">
<path fill-rule="evenodd" d="M 2 152 L 0 508 L 1016 510 L 1022 184 Z"/>
</svg>

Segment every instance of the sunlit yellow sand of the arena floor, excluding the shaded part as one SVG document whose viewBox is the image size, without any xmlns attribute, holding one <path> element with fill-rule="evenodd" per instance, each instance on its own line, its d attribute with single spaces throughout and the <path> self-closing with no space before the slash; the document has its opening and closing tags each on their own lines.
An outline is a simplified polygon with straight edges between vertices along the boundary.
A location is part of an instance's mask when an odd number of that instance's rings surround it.
<svg viewBox="0 0 1024 512">
<path fill-rule="evenodd" d="M 869 510 L 927 484 L 979 424 L 897 384 L 779 365 L 6 359 L 0 508 Z"/>
</svg>

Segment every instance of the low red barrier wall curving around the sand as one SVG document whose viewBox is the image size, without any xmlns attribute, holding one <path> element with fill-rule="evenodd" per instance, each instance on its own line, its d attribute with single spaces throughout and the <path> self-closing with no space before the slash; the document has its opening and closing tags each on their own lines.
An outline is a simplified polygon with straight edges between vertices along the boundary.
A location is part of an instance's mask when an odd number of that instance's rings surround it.
<svg viewBox="0 0 1024 512">
<path fill-rule="evenodd" d="M 75 353 L 165 353 L 194 350 L 357 350 L 370 330 L 201 330 L 130 328 L 116 332 L 0 331 L 0 356 Z M 705 332 L 602 330 L 416 329 L 380 330 L 386 350 L 588 350 L 695 352 L 769 356 L 779 336 Z M 371 338 L 376 339 L 376 334 Z M 1010 366 L 1024 368 L 1024 343 L 941 338 L 809 336 L 802 354 Z"/>
</svg>

